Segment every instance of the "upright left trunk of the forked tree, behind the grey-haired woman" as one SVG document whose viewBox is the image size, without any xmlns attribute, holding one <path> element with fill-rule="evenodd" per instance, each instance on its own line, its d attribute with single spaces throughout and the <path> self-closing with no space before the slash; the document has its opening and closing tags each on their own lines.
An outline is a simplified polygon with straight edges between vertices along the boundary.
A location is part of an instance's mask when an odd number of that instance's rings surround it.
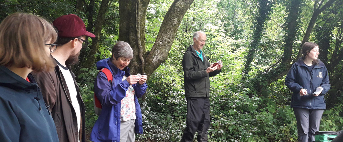
<svg viewBox="0 0 343 142">
<path fill-rule="evenodd" d="M 142 74 L 142 59 L 145 56 L 145 15 L 150 0 L 119 0 L 119 41 L 130 44 L 133 59 L 131 74 Z M 139 38 L 139 39 L 138 39 Z M 141 56 L 140 56 L 141 55 Z M 144 60 L 144 59 L 143 59 Z"/>
</svg>

